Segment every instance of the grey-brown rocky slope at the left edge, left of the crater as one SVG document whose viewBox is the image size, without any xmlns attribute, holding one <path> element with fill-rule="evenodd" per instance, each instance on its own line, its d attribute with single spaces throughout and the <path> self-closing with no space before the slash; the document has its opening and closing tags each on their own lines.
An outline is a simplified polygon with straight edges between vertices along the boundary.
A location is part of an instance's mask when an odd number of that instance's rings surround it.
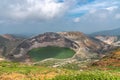
<svg viewBox="0 0 120 80">
<path fill-rule="evenodd" d="M 6 57 L 22 40 L 10 34 L 0 35 L 0 57 Z"/>
</svg>

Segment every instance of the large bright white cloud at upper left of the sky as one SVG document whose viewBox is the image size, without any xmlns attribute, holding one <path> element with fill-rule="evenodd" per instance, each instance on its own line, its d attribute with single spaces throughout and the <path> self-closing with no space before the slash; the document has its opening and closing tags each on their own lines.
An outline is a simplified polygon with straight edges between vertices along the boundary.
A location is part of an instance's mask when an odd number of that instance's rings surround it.
<svg viewBox="0 0 120 80">
<path fill-rule="evenodd" d="M 23 4 L 12 4 L 9 14 L 13 19 L 52 19 L 61 16 L 67 8 L 65 2 L 55 0 L 24 0 Z"/>
</svg>

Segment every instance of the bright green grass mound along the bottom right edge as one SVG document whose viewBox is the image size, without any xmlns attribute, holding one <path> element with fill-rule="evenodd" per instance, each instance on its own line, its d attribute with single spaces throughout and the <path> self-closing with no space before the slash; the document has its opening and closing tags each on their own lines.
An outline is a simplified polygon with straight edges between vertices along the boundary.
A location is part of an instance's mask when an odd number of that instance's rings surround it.
<svg viewBox="0 0 120 80">
<path fill-rule="evenodd" d="M 59 75 L 52 80 L 120 80 L 120 76 L 104 71 L 89 71 L 78 74 Z"/>
</svg>

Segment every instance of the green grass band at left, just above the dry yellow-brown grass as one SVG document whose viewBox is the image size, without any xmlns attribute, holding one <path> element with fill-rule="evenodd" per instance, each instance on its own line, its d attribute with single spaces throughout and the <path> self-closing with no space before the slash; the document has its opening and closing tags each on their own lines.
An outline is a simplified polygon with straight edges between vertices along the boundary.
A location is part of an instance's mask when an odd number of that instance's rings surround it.
<svg viewBox="0 0 120 80">
<path fill-rule="evenodd" d="M 29 72 L 37 72 L 37 71 L 45 70 L 44 68 L 36 68 L 36 66 L 25 65 L 16 62 L 0 62 L 0 73 L 29 73 Z"/>
</svg>

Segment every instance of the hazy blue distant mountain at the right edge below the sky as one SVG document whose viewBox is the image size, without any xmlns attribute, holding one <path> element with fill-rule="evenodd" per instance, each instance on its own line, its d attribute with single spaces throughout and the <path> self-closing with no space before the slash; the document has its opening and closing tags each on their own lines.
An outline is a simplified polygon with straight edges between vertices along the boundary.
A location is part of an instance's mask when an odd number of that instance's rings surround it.
<svg viewBox="0 0 120 80">
<path fill-rule="evenodd" d="M 107 36 L 119 36 L 120 35 L 120 28 L 113 29 L 113 30 L 105 30 L 100 32 L 95 32 L 90 35 L 107 35 Z"/>
</svg>

